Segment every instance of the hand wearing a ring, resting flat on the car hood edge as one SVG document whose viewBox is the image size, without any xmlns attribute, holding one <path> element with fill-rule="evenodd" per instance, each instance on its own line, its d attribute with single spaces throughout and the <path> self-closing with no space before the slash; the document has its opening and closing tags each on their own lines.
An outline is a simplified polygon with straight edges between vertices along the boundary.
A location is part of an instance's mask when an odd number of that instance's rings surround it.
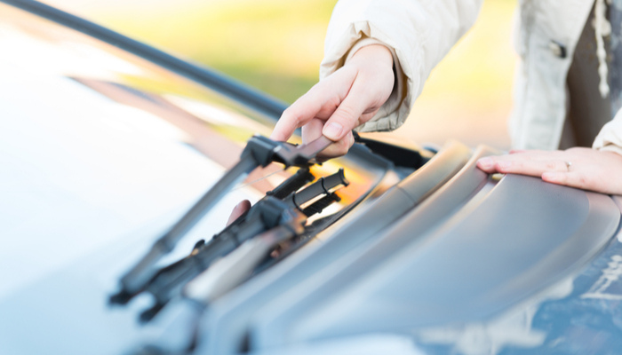
<svg viewBox="0 0 622 355">
<path fill-rule="evenodd" d="M 512 151 L 482 158 L 477 167 L 488 173 L 530 175 L 553 184 L 622 194 L 622 155 L 613 152 L 579 147 L 564 151 Z"/>
</svg>

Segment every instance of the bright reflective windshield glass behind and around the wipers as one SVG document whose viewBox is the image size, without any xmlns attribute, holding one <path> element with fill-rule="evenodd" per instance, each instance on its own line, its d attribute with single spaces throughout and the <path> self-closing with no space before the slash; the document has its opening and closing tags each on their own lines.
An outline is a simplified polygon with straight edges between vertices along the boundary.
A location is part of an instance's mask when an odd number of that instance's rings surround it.
<svg viewBox="0 0 622 355">
<path fill-rule="evenodd" d="M 6 4 L 0 48 L 8 241 L 0 297 L 113 243 L 146 247 L 235 164 L 253 134 L 271 131 L 267 117 L 210 88 Z M 369 193 L 385 173 L 353 158 L 312 172 L 339 168 L 351 184 L 321 216 Z M 272 164 L 251 174 L 184 239 L 182 254 L 221 230 L 237 202 L 258 201 L 295 171 Z"/>
</svg>

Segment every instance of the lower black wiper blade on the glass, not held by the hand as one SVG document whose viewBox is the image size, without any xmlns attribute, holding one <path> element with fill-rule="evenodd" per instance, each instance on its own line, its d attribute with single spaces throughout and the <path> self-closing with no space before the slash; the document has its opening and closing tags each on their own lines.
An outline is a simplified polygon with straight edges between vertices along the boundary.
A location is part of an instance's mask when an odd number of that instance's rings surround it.
<svg viewBox="0 0 622 355">
<path fill-rule="evenodd" d="M 299 235 L 307 217 L 321 212 L 339 197 L 334 192 L 347 186 L 343 169 L 329 177 L 320 177 L 299 192 L 290 193 L 283 200 L 267 195 L 257 202 L 243 217 L 228 225 L 206 243 L 197 243 L 190 256 L 164 267 L 148 281 L 144 290 L 154 296 L 156 304 L 140 316 L 142 321 L 152 319 L 174 296 L 179 296 L 188 281 L 207 270 L 219 257 L 227 256 L 245 241 L 269 230 L 288 229 L 281 237 Z M 289 236 L 289 237 L 286 237 Z"/>
</svg>

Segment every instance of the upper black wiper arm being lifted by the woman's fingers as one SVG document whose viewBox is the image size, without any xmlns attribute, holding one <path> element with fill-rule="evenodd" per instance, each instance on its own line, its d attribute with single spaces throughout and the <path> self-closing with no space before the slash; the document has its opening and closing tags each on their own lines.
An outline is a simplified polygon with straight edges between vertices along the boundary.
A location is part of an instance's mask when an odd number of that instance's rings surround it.
<svg viewBox="0 0 622 355">
<path fill-rule="evenodd" d="M 126 304 L 133 295 L 140 292 L 156 273 L 154 265 L 168 254 L 177 242 L 218 202 L 239 180 L 252 170 L 266 167 L 271 162 L 281 162 L 285 167 L 307 167 L 315 155 L 331 145 L 331 140 L 321 136 L 303 146 L 286 142 L 275 142 L 269 138 L 253 136 L 243 149 L 240 161 L 228 170 L 211 189 L 189 209 L 179 221 L 154 243 L 147 255 L 120 280 L 121 290 L 110 296 L 112 304 Z"/>
</svg>

